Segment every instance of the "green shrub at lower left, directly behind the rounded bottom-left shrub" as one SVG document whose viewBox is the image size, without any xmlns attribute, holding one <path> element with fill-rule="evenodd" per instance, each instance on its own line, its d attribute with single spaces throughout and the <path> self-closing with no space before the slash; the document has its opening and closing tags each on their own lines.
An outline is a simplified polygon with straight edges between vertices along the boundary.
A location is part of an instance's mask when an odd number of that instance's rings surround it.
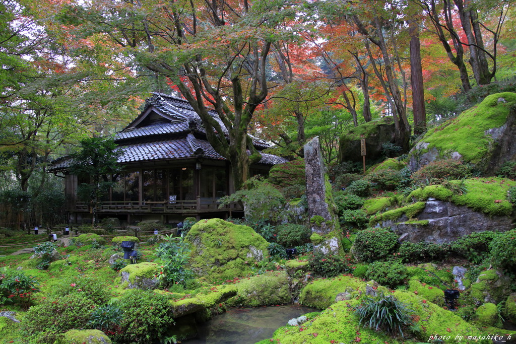
<svg viewBox="0 0 516 344">
<path fill-rule="evenodd" d="M 104 282 L 94 276 L 66 277 L 52 288 L 52 294 L 58 298 L 79 294 L 91 300 L 95 305 L 105 304 L 110 298 Z"/>
</svg>

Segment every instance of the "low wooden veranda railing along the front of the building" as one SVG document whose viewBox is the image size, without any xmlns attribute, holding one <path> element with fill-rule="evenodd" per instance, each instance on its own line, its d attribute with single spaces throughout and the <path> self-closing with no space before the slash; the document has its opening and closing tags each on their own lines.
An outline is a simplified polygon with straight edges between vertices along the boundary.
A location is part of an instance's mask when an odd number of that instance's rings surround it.
<svg viewBox="0 0 516 344">
<path fill-rule="evenodd" d="M 90 204 L 87 202 L 76 202 L 75 211 L 90 211 Z M 99 212 L 150 212 L 150 213 L 166 213 L 166 212 L 199 212 L 199 211 L 217 211 L 217 210 L 241 210 L 237 203 L 231 203 L 223 209 L 219 209 L 217 199 L 202 199 L 188 201 L 123 201 L 123 202 L 102 202 L 99 206 Z"/>
</svg>

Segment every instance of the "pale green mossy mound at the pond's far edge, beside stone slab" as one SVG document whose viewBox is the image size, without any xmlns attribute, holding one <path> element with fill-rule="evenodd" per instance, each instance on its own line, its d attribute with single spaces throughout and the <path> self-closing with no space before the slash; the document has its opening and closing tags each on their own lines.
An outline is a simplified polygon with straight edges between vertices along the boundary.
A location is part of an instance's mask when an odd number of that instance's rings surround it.
<svg viewBox="0 0 516 344">
<path fill-rule="evenodd" d="M 285 271 L 272 271 L 248 277 L 234 285 L 238 293 L 226 302 L 230 307 L 257 307 L 292 302 Z"/>
</svg>

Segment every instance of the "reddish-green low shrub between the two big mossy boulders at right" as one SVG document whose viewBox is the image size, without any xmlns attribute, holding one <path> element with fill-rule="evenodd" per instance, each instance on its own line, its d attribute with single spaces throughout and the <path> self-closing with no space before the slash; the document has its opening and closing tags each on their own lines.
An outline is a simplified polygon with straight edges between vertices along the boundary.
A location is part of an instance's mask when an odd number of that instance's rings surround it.
<svg viewBox="0 0 516 344">
<path fill-rule="evenodd" d="M 414 183 L 423 183 L 427 179 L 444 180 L 460 179 L 471 175 L 470 168 L 464 165 L 462 161 L 455 159 L 436 160 L 423 166 L 421 169 L 414 172 L 411 176 Z"/>
</svg>

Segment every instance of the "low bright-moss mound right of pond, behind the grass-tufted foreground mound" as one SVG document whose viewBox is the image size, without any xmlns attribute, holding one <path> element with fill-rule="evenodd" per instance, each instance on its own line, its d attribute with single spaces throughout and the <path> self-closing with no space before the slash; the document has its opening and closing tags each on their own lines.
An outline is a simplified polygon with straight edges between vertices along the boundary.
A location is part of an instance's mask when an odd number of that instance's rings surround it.
<svg viewBox="0 0 516 344">
<path fill-rule="evenodd" d="M 332 279 L 318 279 L 310 282 L 301 290 L 299 303 L 304 306 L 325 309 L 335 303 L 335 297 L 338 293 L 344 292 L 346 289 L 357 291 L 357 294 L 359 291 L 365 293 L 367 283 L 356 277 L 346 275 L 333 277 Z M 387 292 L 384 287 L 378 287 L 378 290 Z"/>
</svg>

